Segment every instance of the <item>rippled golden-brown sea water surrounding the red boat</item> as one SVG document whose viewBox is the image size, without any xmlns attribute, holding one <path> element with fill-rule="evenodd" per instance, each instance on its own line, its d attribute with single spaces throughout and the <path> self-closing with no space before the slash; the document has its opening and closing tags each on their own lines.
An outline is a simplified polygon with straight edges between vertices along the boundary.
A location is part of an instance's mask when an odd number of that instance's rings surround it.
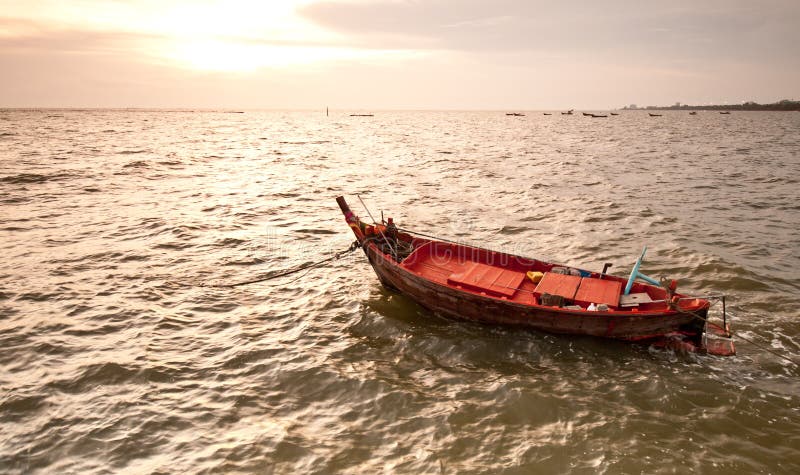
<svg viewBox="0 0 800 475">
<path fill-rule="evenodd" d="M 0 472 L 798 473 L 800 113 L 0 111 Z M 334 197 L 693 294 L 720 358 L 457 322 Z M 721 308 L 712 309 L 715 317 Z"/>
</svg>

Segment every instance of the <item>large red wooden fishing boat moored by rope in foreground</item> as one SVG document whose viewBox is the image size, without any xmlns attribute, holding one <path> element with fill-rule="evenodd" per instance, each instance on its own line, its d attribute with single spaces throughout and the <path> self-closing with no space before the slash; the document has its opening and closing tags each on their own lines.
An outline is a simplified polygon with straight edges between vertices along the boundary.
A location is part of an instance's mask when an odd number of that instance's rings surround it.
<svg viewBox="0 0 800 475">
<path fill-rule="evenodd" d="M 706 322 L 710 302 L 629 279 L 361 221 L 344 197 L 345 221 L 381 283 L 434 312 L 485 324 L 644 341 L 686 351 L 735 353 L 727 325 Z M 709 331 L 710 333 L 707 333 Z M 709 337 L 711 335 L 711 337 Z"/>
</svg>

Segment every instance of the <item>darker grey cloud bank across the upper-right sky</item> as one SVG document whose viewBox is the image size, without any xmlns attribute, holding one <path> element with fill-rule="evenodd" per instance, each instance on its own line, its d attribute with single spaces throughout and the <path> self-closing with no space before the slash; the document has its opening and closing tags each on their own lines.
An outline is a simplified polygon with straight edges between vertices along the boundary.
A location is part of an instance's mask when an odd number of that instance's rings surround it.
<svg viewBox="0 0 800 475">
<path fill-rule="evenodd" d="M 763 55 L 800 43 L 794 0 L 550 2 L 323 1 L 299 13 L 354 46 L 624 54 L 663 59 Z"/>
</svg>

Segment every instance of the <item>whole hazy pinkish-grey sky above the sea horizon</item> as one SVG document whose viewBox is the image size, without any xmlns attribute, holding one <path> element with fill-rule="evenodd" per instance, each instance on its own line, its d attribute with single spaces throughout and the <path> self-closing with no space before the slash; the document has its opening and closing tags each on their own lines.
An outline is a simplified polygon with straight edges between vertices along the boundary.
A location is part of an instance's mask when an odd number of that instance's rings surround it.
<svg viewBox="0 0 800 475">
<path fill-rule="evenodd" d="M 0 107 L 800 99 L 798 0 L 0 0 Z"/>
</svg>

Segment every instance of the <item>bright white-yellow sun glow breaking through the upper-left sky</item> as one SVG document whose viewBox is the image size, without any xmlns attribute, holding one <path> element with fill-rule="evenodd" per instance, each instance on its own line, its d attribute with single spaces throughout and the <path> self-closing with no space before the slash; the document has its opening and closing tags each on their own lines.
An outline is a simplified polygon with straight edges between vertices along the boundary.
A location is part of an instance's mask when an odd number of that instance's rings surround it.
<svg viewBox="0 0 800 475">
<path fill-rule="evenodd" d="M 184 69 L 253 72 L 347 60 L 394 59 L 408 52 L 349 47 L 340 34 L 297 13 L 319 0 L 137 0 L 6 2 L 8 14 L 57 31 L 124 38 L 114 47 Z M 35 15 L 31 15 L 35 9 Z M 24 26 L 24 25 L 23 25 Z M 28 28 L 34 28 L 30 26 Z M 120 51 L 120 49 L 116 51 Z"/>
</svg>

